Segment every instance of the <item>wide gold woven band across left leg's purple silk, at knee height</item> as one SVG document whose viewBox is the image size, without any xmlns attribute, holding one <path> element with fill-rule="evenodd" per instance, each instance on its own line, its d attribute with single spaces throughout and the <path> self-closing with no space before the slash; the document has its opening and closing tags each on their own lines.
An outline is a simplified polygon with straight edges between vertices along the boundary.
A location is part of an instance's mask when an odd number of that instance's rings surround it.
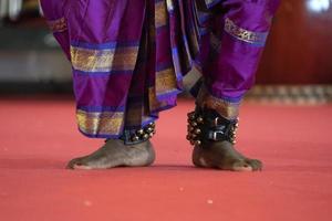
<svg viewBox="0 0 332 221">
<path fill-rule="evenodd" d="M 138 46 L 117 49 L 83 49 L 71 46 L 71 61 L 75 70 L 83 72 L 110 72 L 134 70 Z"/>
</svg>

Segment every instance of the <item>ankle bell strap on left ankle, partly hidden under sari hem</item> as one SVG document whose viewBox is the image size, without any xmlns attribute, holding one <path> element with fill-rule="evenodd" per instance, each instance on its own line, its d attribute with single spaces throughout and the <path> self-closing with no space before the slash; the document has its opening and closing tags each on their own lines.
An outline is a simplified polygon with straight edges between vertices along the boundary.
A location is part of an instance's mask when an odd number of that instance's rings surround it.
<svg viewBox="0 0 332 221">
<path fill-rule="evenodd" d="M 148 140 L 156 134 L 155 123 L 149 123 L 147 126 L 141 129 L 125 129 L 121 139 L 125 145 L 136 145 Z"/>
</svg>

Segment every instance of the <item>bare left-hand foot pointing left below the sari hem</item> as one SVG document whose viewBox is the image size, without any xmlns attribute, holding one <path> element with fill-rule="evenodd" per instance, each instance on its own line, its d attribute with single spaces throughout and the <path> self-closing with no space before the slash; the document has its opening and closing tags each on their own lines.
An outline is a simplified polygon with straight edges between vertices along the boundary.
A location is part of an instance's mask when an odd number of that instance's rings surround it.
<svg viewBox="0 0 332 221">
<path fill-rule="evenodd" d="M 149 140 L 136 145 L 124 145 L 123 140 L 110 139 L 91 155 L 72 159 L 68 169 L 110 169 L 113 167 L 143 167 L 155 160 Z"/>
</svg>

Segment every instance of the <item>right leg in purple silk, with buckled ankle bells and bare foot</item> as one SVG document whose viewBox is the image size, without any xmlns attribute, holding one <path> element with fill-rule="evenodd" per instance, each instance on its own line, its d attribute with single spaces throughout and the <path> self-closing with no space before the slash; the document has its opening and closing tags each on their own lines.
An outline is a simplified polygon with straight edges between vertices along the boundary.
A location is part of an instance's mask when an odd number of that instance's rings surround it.
<svg viewBox="0 0 332 221">
<path fill-rule="evenodd" d="M 198 167 L 236 171 L 262 168 L 260 160 L 235 149 L 235 130 L 240 101 L 253 84 L 277 6 L 278 1 L 269 0 L 226 0 L 214 6 L 225 13 L 211 9 L 210 32 L 201 43 L 203 86 L 188 126 L 188 139 L 195 145 L 193 161 Z"/>
</svg>

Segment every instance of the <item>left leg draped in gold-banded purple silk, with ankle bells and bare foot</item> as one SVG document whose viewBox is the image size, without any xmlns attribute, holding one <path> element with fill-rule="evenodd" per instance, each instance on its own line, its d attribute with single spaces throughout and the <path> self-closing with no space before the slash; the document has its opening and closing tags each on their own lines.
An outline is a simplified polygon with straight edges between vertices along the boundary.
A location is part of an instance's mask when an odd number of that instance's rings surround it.
<svg viewBox="0 0 332 221">
<path fill-rule="evenodd" d="M 107 138 L 70 169 L 147 166 L 148 138 L 158 112 L 175 106 L 178 80 L 172 62 L 165 1 L 42 1 L 44 14 L 73 67 L 80 131 Z M 73 10 L 72 10 L 73 9 Z M 156 11 L 153 13 L 146 13 Z M 165 13 L 162 15 L 160 13 Z M 147 127 L 145 129 L 145 127 Z"/>
</svg>

